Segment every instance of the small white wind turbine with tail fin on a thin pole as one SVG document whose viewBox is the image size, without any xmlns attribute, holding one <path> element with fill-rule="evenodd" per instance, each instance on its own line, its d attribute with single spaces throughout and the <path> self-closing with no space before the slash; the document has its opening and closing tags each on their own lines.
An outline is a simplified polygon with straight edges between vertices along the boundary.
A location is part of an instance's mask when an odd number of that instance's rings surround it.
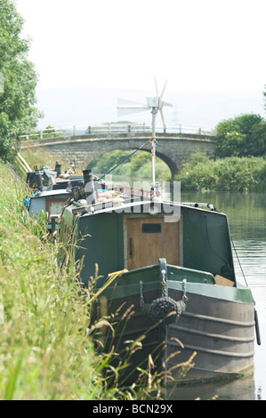
<svg viewBox="0 0 266 418">
<path fill-rule="evenodd" d="M 166 85 L 166 83 L 167 83 L 167 80 L 165 81 L 165 85 Z M 157 89 L 157 82 L 156 82 L 156 79 L 155 79 L 155 86 L 156 86 L 157 95 L 152 96 L 152 97 L 147 97 L 147 103 L 146 104 L 135 103 L 133 101 L 123 100 L 123 99 L 118 99 L 118 103 L 117 103 L 117 115 L 118 115 L 118 117 L 125 116 L 125 115 L 130 115 L 130 114 L 133 114 L 133 113 L 136 113 L 136 112 L 142 112 L 144 110 L 150 110 L 151 109 L 152 137 L 149 141 L 151 143 L 152 187 L 153 187 L 152 198 L 154 198 L 156 196 L 156 192 L 155 192 L 155 157 L 156 157 L 155 122 L 156 122 L 157 112 L 158 111 L 160 112 L 162 122 L 163 122 L 163 125 L 164 125 L 164 131 L 165 131 L 165 117 L 164 117 L 163 107 L 164 106 L 173 106 L 172 104 L 166 103 L 163 100 L 163 95 L 164 95 L 164 92 L 165 92 L 165 85 L 164 85 L 163 91 L 161 92 L 161 94 L 159 94 L 158 89 Z"/>
</svg>

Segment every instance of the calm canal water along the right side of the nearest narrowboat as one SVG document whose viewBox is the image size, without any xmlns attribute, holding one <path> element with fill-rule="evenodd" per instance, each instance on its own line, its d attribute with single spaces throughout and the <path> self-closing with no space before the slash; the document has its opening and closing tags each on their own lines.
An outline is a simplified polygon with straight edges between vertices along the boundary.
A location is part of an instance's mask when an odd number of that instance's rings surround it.
<svg viewBox="0 0 266 418">
<path fill-rule="evenodd" d="M 259 317 L 261 340 L 255 342 L 254 374 L 232 382 L 173 388 L 169 399 L 266 400 L 266 193 L 182 193 L 181 201 L 212 203 L 228 215 L 236 248 L 238 281 L 252 289 Z"/>
</svg>

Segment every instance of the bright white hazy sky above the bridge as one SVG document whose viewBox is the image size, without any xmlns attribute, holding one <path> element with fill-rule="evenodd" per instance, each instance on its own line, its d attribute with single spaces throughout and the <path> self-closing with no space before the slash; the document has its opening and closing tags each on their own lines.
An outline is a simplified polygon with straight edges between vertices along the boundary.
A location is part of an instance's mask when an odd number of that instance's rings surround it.
<svg viewBox="0 0 266 418">
<path fill-rule="evenodd" d="M 262 92 L 265 0 L 16 0 L 38 89 Z M 130 99 L 126 97 L 125 99 Z"/>
</svg>

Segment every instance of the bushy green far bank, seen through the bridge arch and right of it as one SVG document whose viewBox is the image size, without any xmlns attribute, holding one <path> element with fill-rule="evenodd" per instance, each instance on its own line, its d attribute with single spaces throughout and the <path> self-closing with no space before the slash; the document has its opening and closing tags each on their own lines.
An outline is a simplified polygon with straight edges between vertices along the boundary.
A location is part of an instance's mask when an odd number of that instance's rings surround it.
<svg viewBox="0 0 266 418">
<path fill-rule="evenodd" d="M 128 159 L 126 159 L 129 157 Z M 90 167 L 93 173 L 109 173 L 124 178 L 149 179 L 151 158 L 147 152 L 139 152 L 130 157 L 130 152 L 117 150 L 96 158 Z M 169 181 L 171 173 L 165 163 L 157 158 L 157 181 Z M 193 191 L 256 191 L 266 189 L 266 158 L 225 157 L 210 159 L 201 153 L 191 155 L 181 172 L 174 179 L 181 181 L 181 190 Z"/>
</svg>

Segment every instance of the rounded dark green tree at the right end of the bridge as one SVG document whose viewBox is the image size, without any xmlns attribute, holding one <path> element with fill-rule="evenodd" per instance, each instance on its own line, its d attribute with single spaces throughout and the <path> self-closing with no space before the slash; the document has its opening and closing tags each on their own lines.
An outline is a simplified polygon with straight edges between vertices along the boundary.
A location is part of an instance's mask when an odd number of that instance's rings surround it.
<svg viewBox="0 0 266 418">
<path fill-rule="evenodd" d="M 254 114 L 240 115 L 220 122 L 216 128 L 218 157 L 262 155 L 265 152 L 263 141 L 259 141 L 259 131 L 256 129 L 260 124 L 262 132 L 263 118 Z"/>
</svg>

